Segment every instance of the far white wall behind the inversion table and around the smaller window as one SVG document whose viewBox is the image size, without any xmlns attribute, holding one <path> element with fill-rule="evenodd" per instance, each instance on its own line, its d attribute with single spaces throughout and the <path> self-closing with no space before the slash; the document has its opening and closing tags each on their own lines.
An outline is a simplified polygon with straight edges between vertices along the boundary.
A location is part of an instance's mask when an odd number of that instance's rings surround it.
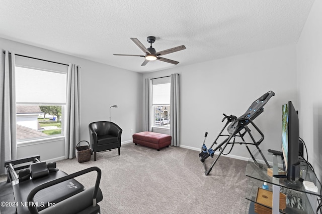
<svg viewBox="0 0 322 214">
<path fill-rule="evenodd" d="M 182 147 L 199 150 L 206 131 L 210 146 L 224 125 L 223 113 L 239 117 L 272 90 L 276 95 L 254 122 L 265 135 L 261 149 L 280 150 L 282 104 L 291 100 L 297 107 L 295 44 L 148 73 L 143 79 L 171 73 L 180 74 Z M 241 159 L 250 156 L 239 144 L 230 154 Z"/>
</svg>

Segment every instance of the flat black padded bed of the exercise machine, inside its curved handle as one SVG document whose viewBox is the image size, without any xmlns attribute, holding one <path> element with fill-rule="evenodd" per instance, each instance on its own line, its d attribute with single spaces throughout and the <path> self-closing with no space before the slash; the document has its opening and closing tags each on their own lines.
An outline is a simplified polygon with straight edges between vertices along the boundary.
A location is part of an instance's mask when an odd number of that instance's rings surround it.
<svg viewBox="0 0 322 214">
<path fill-rule="evenodd" d="M 40 177 L 37 179 L 26 180 L 13 185 L 14 195 L 16 202 L 18 203 L 17 213 L 25 214 L 30 213 L 28 206 L 32 204 L 27 203 L 27 196 L 30 191 L 43 183 L 51 180 L 55 180 L 60 177 L 64 177 L 67 174 L 63 171 L 52 172 L 47 176 Z M 38 207 L 38 211 L 48 207 L 50 203 L 58 203 L 66 198 L 75 195 L 79 192 L 85 190 L 85 187 L 75 179 L 69 179 L 58 183 L 56 185 L 50 186 L 48 188 L 42 189 L 36 193 L 34 201 Z M 25 204 L 26 203 L 26 204 Z"/>
</svg>

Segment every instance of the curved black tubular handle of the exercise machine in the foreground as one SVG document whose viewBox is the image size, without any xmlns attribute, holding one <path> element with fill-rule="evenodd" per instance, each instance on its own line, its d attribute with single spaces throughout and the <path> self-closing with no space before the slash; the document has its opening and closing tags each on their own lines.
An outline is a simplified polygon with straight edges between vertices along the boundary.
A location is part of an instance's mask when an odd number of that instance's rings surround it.
<svg viewBox="0 0 322 214">
<path fill-rule="evenodd" d="M 52 185 L 55 185 L 57 183 L 60 183 L 60 182 L 63 182 L 63 181 L 66 181 L 66 180 L 69 180 L 71 178 L 74 178 L 74 177 L 77 177 L 79 175 L 83 175 L 83 174 L 86 174 L 86 173 L 89 173 L 91 171 L 97 171 L 97 177 L 96 177 L 96 182 L 95 182 L 95 188 L 94 188 L 94 191 L 93 191 L 93 206 L 96 205 L 96 198 L 97 198 L 97 193 L 98 193 L 98 190 L 99 190 L 99 185 L 100 185 L 100 181 L 101 181 L 101 176 L 102 176 L 102 171 L 99 167 L 96 167 L 96 166 L 93 166 L 93 167 L 90 167 L 90 168 L 87 168 L 87 169 L 84 169 L 84 170 L 81 170 L 81 171 L 77 171 L 77 172 L 74 172 L 72 174 L 69 174 L 69 175 L 66 175 L 64 177 L 60 177 L 58 179 L 55 179 L 55 180 L 52 180 L 52 181 L 49 181 L 47 183 L 43 183 L 35 188 L 33 188 L 30 193 L 28 194 L 27 196 L 27 201 L 31 201 L 32 203 L 31 204 L 34 204 L 34 196 L 35 194 L 44 189 L 44 188 L 47 188 L 49 186 L 52 186 Z M 32 205 L 32 206 L 28 206 L 28 209 L 30 211 L 30 213 L 32 214 L 36 214 L 36 213 L 39 213 L 38 212 L 38 209 L 36 206 Z"/>
</svg>

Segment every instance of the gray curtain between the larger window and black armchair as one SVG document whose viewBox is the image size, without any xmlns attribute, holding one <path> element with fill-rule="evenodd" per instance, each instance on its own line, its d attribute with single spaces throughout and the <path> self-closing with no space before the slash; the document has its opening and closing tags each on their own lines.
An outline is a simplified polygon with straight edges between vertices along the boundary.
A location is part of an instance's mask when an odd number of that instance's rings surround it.
<svg viewBox="0 0 322 214">
<path fill-rule="evenodd" d="M 67 74 L 67 100 L 65 112 L 65 158 L 75 156 L 76 144 L 79 142 L 79 66 L 69 64 Z"/>
</svg>

